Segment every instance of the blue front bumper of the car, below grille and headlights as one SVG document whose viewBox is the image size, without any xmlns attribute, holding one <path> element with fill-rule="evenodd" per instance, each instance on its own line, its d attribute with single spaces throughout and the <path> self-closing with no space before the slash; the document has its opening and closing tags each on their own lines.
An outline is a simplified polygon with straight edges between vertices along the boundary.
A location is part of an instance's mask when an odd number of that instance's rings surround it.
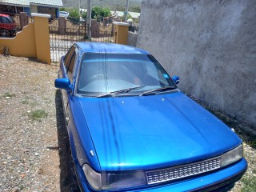
<svg viewBox="0 0 256 192">
<path fill-rule="evenodd" d="M 77 167 L 78 168 L 78 167 Z M 237 182 L 247 169 L 247 162 L 244 158 L 232 166 L 212 173 L 198 175 L 193 178 L 186 178 L 178 182 L 162 183 L 160 185 L 151 185 L 142 188 L 118 190 L 118 191 L 227 191 L 230 190 L 234 183 Z M 94 191 L 88 186 L 85 177 L 78 170 L 79 185 L 82 191 Z"/>
</svg>

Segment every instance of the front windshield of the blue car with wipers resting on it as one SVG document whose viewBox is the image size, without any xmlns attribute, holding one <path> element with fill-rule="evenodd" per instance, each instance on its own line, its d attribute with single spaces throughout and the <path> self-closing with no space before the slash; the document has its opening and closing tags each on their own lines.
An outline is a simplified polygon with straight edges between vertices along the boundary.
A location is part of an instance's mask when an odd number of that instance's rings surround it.
<svg viewBox="0 0 256 192">
<path fill-rule="evenodd" d="M 152 55 L 86 53 L 80 67 L 77 94 L 93 97 L 134 95 L 164 87 L 176 88 Z"/>
</svg>

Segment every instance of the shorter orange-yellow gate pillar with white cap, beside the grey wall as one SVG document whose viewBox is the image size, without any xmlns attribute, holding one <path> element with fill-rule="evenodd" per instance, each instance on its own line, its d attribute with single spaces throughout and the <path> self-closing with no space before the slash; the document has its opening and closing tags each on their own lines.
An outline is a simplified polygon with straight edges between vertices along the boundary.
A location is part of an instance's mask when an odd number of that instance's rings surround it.
<svg viewBox="0 0 256 192">
<path fill-rule="evenodd" d="M 114 24 L 114 43 L 127 45 L 128 27 L 126 22 L 113 22 Z"/>
</svg>

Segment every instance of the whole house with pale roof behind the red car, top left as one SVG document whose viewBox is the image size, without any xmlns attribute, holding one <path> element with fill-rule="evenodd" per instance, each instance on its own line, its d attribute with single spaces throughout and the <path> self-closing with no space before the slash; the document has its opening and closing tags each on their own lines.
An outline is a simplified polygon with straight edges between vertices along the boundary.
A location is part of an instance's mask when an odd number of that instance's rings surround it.
<svg viewBox="0 0 256 192">
<path fill-rule="evenodd" d="M 6 14 L 19 14 L 26 12 L 38 14 L 50 14 L 51 18 L 58 18 L 62 0 L 1 0 L 0 12 Z"/>
</svg>

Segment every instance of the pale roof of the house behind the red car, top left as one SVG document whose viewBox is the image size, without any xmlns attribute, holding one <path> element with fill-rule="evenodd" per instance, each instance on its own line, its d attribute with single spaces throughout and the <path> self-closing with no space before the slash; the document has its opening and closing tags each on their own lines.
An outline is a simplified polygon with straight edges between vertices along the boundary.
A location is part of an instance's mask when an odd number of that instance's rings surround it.
<svg viewBox="0 0 256 192">
<path fill-rule="evenodd" d="M 30 4 L 42 6 L 63 6 L 62 0 L 0 0 L 0 4 L 14 6 L 30 6 Z"/>
</svg>

